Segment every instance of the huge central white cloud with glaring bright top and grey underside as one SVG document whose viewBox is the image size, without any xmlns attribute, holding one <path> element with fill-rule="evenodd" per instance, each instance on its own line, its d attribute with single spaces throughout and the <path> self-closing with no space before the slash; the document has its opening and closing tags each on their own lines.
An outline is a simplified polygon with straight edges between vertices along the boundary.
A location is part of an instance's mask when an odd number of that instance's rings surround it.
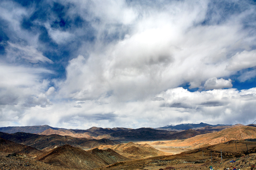
<svg viewBox="0 0 256 170">
<path fill-rule="evenodd" d="M 161 12 L 141 12 L 124 39 L 97 42 L 88 59 L 80 55 L 71 60 L 60 92 L 75 100 L 94 100 L 108 92 L 119 100 L 141 100 L 184 83 L 197 88 L 209 78 L 231 75 L 225 70 L 227 55 L 233 50 L 230 44 L 244 36 L 241 26 L 231 21 L 195 26 L 204 20 L 207 3 L 167 6 Z"/>
</svg>

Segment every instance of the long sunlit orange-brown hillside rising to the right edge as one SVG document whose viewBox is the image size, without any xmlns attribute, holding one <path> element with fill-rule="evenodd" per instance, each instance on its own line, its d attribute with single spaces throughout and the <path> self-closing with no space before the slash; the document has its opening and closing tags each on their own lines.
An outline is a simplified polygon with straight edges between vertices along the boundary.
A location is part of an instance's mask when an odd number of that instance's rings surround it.
<svg viewBox="0 0 256 170">
<path fill-rule="evenodd" d="M 247 128 L 247 129 L 246 129 Z M 243 132 L 244 131 L 244 132 Z M 243 132 L 243 133 L 242 133 Z M 242 133 L 242 134 L 241 134 Z M 248 126 L 236 126 L 224 129 L 218 132 L 198 135 L 185 139 L 182 142 L 169 141 L 166 145 L 172 146 L 206 146 L 227 142 L 228 140 L 242 140 L 248 138 L 256 138 L 256 128 Z"/>
</svg>

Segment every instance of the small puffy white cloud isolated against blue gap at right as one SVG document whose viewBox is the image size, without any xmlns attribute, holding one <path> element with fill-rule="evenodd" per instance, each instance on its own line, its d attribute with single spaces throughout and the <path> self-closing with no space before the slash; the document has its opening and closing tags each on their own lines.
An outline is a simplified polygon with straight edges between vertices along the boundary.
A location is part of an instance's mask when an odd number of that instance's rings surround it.
<svg viewBox="0 0 256 170">
<path fill-rule="evenodd" d="M 211 90 L 211 89 L 224 89 L 224 88 L 231 88 L 232 85 L 232 80 L 228 79 L 225 80 L 223 78 L 217 79 L 216 77 L 209 78 L 208 80 L 205 81 L 204 88 L 206 90 Z"/>
</svg>

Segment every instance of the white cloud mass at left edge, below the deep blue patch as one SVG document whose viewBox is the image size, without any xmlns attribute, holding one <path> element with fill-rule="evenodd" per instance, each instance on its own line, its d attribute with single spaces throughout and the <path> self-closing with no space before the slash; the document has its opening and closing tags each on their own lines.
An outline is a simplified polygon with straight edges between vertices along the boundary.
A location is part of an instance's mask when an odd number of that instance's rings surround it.
<svg viewBox="0 0 256 170">
<path fill-rule="evenodd" d="M 41 78 L 41 74 L 52 74 L 51 71 L 0 64 L 0 72 L 0 110 L 4 113 L 1 118 L 4 123 L 19 122 L 30 107 L 52 105 L 44 94 L 50 82 Z"/>
</svg>

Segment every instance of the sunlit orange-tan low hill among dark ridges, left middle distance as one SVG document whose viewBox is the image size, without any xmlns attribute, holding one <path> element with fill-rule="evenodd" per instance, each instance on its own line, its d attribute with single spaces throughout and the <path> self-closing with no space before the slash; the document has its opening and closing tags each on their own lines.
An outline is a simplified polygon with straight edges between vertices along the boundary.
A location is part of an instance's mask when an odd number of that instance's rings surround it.
<svg viewBox="0 0 256 170">
<path fill-rule="evenodd" d="M 52 134 L 57 134 L 61 136 L 71 136 L 71 137 L 76 137 L 76 138 L 87 138 L 87 139 L 93 139 L 93 137 L 85 134 L 85 133 L 75 133 L 72 129 L 47 129 L 44 130 L 41 133 L 38 133 L 38 135 L 52 135 Z"/>
</svg>

